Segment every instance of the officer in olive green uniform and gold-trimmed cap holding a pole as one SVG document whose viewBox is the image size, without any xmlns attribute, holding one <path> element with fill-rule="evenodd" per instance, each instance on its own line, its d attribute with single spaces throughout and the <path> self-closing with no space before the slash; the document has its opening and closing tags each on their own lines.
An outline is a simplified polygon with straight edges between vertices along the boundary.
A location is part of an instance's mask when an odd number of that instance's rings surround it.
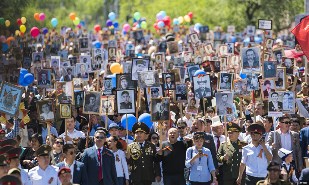
<svg viewBox="0 0 309 185">
<path fill-rule="evenodd" d="M 241 161 L 241 153 L 243 146 L 248 143 L 240 141 L 238 139 L 239 132 L 242 129 L 233 122 L 230 122 L 226 126 L 227 135 L 230 141 L 227 142 L 227 154 L 225 153 L 226 142 L 222 142 L 218 149 L 218 154 L 216 156 L 217 161 L 223 163 L 223 180 L 224 184 L 237 185 L 236 180 L 239 174 L 239 164 Z M 245 184 L 246 174 L 242 175 L 242 185 Z"/>
</svg>

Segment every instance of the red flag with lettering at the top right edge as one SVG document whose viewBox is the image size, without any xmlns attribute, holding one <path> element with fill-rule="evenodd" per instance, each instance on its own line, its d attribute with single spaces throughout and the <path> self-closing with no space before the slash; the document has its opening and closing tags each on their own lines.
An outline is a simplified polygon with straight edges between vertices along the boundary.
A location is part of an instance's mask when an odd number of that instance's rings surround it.
<svg viewBox="0 0 309 185">
<path fill-rule="evenodd" d="M 292 31 L 307 59 L 309 58 L 309 16 L 302 20 Z"/>
</svg>

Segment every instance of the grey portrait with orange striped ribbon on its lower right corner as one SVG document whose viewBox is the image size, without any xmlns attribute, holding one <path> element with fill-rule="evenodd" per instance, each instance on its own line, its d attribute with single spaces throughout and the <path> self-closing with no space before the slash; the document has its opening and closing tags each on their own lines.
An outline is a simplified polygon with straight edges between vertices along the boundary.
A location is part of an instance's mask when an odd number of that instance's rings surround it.
<svg viewBox="0 0 309 185">
<path fill-rule="evenodd" d="M 216 107 L 218 116 L 233 115 L 233 92 L 216 93 Z"/>
</svg>

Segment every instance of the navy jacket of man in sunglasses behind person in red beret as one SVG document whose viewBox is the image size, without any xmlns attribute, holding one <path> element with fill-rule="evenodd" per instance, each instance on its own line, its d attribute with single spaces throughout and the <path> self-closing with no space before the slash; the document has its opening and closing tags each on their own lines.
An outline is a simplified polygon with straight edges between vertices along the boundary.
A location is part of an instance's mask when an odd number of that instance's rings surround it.
<svg viewBox="0 0 309 185">
<path fill-rule="evenodd" d="M 64 161 L 59 162 L 55 165 L 56 167 L 62 168 L 64 166 Z M 87 173 L 86 167 L 84 163 L 75 161 L 74 171 L 73 171 L 73 183 L 80 184 L 80 185 L 87 185 L 88 184 L 88 177 L 85 175 Z"/>
</svg>

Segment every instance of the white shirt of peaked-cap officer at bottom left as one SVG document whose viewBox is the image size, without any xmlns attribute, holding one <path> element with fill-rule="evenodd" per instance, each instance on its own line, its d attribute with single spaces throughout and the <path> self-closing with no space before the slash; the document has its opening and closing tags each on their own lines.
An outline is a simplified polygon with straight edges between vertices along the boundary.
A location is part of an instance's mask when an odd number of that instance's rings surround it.
<svg viewBox="0 0 309 185">
<path fill-rule="evenodd" d="M 59 168 L 55 166 L 48 165 L 48 167 L 43 170 L 42 168 L 40 168 L 40 165 L 38 165 L 29 170 L 29 177 L 31 179 L 32 185 L 60 185 L 61 181 L 58 178 L 58 171 Z M 51 180 L 52 178 L 53 181 L 49 183 L 49 180 Z"/>
</svg>

